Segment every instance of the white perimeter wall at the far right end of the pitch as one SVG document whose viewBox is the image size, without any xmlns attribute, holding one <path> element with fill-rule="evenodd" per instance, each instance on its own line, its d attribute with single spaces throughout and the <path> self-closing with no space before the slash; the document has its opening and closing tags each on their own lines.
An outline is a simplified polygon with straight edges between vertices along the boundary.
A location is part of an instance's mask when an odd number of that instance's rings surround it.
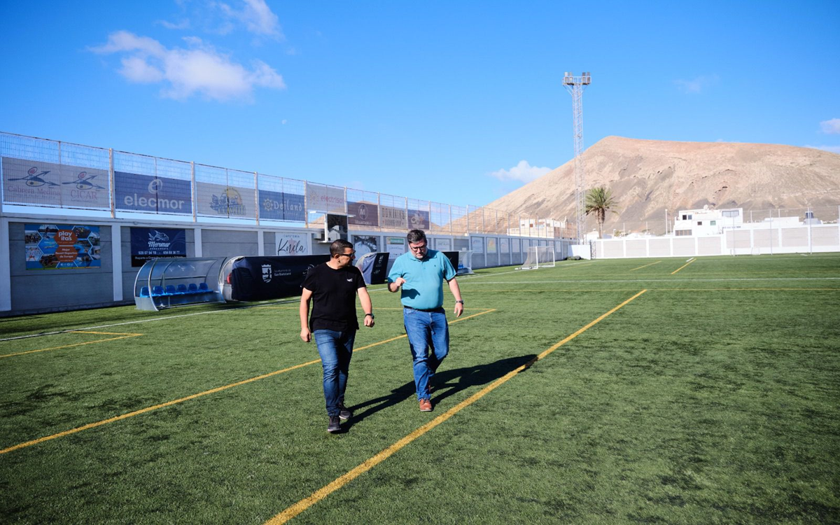
<svg viewBox="0 0 840 525">
<path fill-rule="evenodd" d="M 599 239 L 595 259 L 796 254 L 840 251 L 840 224 L 735 229 L 708 237 Z"/>
</svg>

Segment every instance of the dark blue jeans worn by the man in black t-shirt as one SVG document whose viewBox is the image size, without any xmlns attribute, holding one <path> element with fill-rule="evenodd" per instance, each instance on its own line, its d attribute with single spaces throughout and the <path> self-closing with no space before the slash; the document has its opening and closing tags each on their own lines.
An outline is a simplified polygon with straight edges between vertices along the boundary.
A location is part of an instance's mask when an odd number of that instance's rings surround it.
<svg viewBox="0 0 840 525">
<path fill-rule="evenodd" d="M 327 415 L 338 416 L 339 405 L 344 403 L 344 389 L 347 388 L 347 374 L 350 358 L 353 357 L 353 341 L 356 331 L 315 330 L 312 332 L 323 367 L 323 398 L 327 404 Z"/>
</svg>

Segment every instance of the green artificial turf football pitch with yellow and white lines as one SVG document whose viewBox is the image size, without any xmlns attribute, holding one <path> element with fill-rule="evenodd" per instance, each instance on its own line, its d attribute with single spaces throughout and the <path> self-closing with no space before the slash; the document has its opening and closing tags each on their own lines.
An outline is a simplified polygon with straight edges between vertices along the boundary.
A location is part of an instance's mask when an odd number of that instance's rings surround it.
<svg viewBox="0 0 840 525">
<path fill-rule="evenodd" d="M 840 522 L 840 255 L 687 262 L 459 278 L 434 412 L 371 286 L 338 435 L 296 302 L 0 318 L 0 522 Z"/>
</svg>

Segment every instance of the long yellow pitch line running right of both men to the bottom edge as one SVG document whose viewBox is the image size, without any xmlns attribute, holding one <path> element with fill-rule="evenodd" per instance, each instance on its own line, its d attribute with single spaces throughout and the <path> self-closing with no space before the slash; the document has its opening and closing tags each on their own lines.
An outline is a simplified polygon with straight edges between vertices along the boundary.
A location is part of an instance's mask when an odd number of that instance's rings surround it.
<svg viewBox="0 0 840 525">
<path fill-rule="evenodd" d="M 395 444 L 392 444 L 387 449 L 382 450 L 379 454 L 376 454 L 372 458 L 365 460 L 364 463 L 356 466 L 353 470 L 349 470 L 349 472 L 347 472 L 344 475 L 339 476 L 339 478 L 336 478 L 332 482 L 330 482 L 327 485 L 321 487 L 320 489 L 318 489 L 318 491 L 312 492 L 311 496 L 307 496 L 307 497 L 303 498 L 301 501 L 297 501 L 297 503 L 291 505 L 291 507 L 287 507 L 286 510 L 277 514 L 275 517 L 272 517 L 269 521 L 265 522 L 266 525 L 281 525 L 281 523 L 288 522 L 289 520 L 291 520 L 291 518 L 296 517 L 301 512 L 307 510 L 307 508 L 312 507 L 312 505 L 318 503 L 318 501 L 323 500 L 324 498 L 326 498 L 327 496 L 329 496 L 333 492 L 338 491 L 341 487 L 347 485 L 350 481 L 356 479 L 357 477 L 359 477 L 362 474 L 365 474 L 365 472 L 372 469 L 376 465 L 379 465 L 382 461 L 385 461 L 391 455 L 396 454 L 397 451 L 404 448 L 407 444 L 411 444 L 412 441 L 419 438 L 423 434 L 428 433 L 429 430 L 437 427 L 440 423 L 444 423 L 444 421 L 449 419 L 449 417 L 453 417 L 456 413 L 460 412 L 465 407 L 469 407 L 471 404 L 478 401 L 481 397 L 486 396 L 486 394 L 488 394 L 489 392 L 495 390 L 497 387 L 499 387 L 502 384 L 506 383 L 507 381 L 511 380 L 512 377 L 514 377 L 518 373 L 522 372 L 522 370 L 528 369 L 531 365 L 536 363 L 538 360 L 543 359 L 545 356 L 554 352 L 554 350 L 559 349 L 564 344 L 568 343 L 572 339 L 575 339 L 581 333 L 584 333 L 589 328 L 592 328 L 597 323 L 600 323 L 601 320 L 603 320 L 603 319 L 607 318 L 608 316 L 612 315 L 612 313 L 617 312 L 620 308 L 624 307 L 628 302 L 631 302 L 636 297 L 641 296 L 645 291 L 647 291 L 647 290 L 639 291 L 636 295 L 627 299 L 627 301 L 622 302 L 617 307 L 612 308 L 612 310 L 610 310 L 609 312 L 606 312 L 605 314 L 601 315 L 601 317 L 599 317 L 596 320 L 592 321 L 591 323 L 587 324 L 585 327 L 580 328 L 580 330 L 578 330 L 577 332 L 572 333 L 569 337 L 563 339 L 562 341 L 560 341 L 557 344 L 554 344 L 554 346 L 550 347 L 549 349 L 544 350 L 542 354 L 539 354 L 537 357 L 533 358 L 533 360 L 530 360 L 530 361 L 528 361 L 528 363 L 520 366 L 516 370 L 512 370 L 512 371 L 508 372 L 507 374 L 501 376 L 496 381 L 493 381 L 490 385 L 488 385 L 485 388 L 481 389 L 480 391 L 476 392 L 475 394 L 468 397 L 464 401 L 459 402 L 457 405 L 450 408 L 448 411 L 444 412 L 443 414 L 441 414 L 438 417 L 435 417 L 432 421 L 424 424 L 422 427 L 417 428 L 417 430 L 408 434 L 406 437 L 400 439 Z"/>
</svg>

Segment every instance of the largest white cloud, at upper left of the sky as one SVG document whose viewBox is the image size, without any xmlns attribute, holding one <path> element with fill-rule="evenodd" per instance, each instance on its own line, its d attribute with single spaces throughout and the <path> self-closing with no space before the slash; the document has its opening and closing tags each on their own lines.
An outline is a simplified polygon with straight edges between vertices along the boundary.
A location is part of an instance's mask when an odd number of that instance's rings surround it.
<svg viewBox="0 0 840 525">
<path fill-rule="evenodd" d="M 228 55 L 205 45 L 201 39 L 184 39 L 187 49 L 167 49 L 155 39 L 118 31 L 108 43 L 93 47 L 94 53 L 126 53 L 119 73 L 132 82 L 164 82 L 164 97 L 185 99 L 201 94 L 214 100 L 250 101 L 255 87 L 283 89 L 283 77 L 261 60 L 246 68 Z"/>
</svg>

